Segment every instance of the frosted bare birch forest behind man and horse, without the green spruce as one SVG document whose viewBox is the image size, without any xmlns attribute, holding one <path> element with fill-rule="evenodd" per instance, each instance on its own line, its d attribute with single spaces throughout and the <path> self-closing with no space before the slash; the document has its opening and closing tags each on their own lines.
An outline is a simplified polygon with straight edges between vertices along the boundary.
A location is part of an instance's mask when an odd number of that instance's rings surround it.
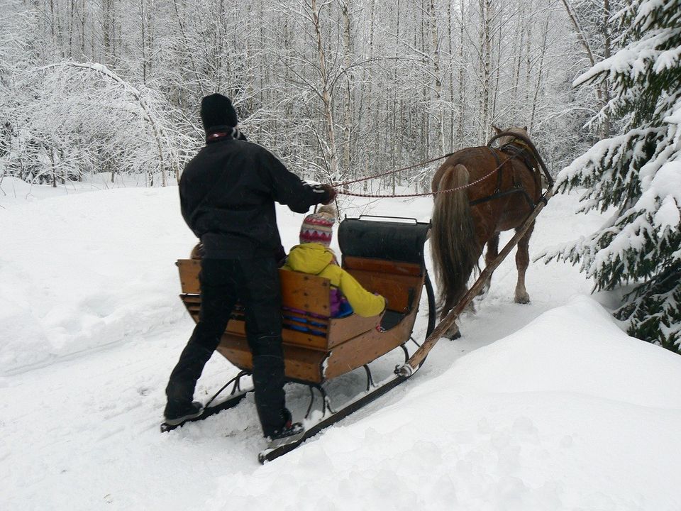
<svg viewBox="0 0 681 511">
<path fill-rule="evenodd" d="M 610 0 L 9 0 L 0 6 L 0 182 L 175 180 L 205 94 L 301 177 L 328 182 L 528 126 L 553 172 L 611 133 Z M 437 163 L 364 186 L 427 191 Z"/>
</svg>

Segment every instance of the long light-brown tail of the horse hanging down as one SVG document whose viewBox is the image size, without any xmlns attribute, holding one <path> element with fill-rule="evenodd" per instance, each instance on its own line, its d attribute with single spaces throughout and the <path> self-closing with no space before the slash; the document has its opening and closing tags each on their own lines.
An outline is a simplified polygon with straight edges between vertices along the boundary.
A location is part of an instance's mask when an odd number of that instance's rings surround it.
<svg viewBox="0 0 681 511">
<path fill-rule="evenodd" d="M 468 180 L 467 168 L 458 164 L 443 172 L 438 189 L 463 187 Z M 432 224 L 431 253 L 440 306 L 452 307 L 465 292 L 473 268 L 479 269 L 480 247 L 465 188 L 436 194 Z"/>
</svg>

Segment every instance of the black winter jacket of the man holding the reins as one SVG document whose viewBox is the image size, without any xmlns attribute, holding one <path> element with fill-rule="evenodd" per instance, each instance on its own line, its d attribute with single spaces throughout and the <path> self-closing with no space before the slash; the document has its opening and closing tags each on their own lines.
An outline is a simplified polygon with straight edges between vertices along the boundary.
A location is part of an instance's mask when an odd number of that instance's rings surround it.
<svg viewBox="0 0 681 511">
<path fill-rule="evenodd" d="M 328 199 L 265 148 L 233 138 L 209 142 L 179 180 L 184 221 L 211 259 L 274 257 L 281 246 L 275 201 L 305 213 Z"/>
</svg>

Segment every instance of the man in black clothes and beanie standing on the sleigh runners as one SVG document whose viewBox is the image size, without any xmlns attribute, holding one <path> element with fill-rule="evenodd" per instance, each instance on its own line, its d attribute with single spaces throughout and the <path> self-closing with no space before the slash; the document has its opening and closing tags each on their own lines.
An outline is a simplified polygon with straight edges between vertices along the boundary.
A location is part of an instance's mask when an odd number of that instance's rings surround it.
<svg viewBox="0 0 681 511">
<path fill-rule="evenodd" d="M 305 213 L 328 204 L 336 191 L 308 185 L 274 155 L 246 141 L 236 128 L 231 101 L 221 94 L 201 100 L 206 146 L 187 163 L 179 181 L 182 216 L 201 238 L 201 313 L 166 388 L 165 419 L 179 424 L 197 417 L 196 381 L 218 346 L 237 300 L 243 304 L 253 354 L 255 405 L 265 436 L 278 439 L 301 431 L 284 403 L 281 246 L 275 202 Z"/>
</svg>

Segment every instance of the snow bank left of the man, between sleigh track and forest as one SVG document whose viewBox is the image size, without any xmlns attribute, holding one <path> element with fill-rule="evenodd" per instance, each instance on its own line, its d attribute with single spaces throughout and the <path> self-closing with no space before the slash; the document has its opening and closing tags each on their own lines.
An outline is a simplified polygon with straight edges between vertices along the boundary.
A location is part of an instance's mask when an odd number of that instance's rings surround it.
<svg viewBox="0 0 681 511">
<path fill-rule="evenodd" d="M 177 211 L 176 187 L 0 209 L 0 374 L 181 319 L 173 261 L 187 257 L 195 238 Z"/>
</svg>

